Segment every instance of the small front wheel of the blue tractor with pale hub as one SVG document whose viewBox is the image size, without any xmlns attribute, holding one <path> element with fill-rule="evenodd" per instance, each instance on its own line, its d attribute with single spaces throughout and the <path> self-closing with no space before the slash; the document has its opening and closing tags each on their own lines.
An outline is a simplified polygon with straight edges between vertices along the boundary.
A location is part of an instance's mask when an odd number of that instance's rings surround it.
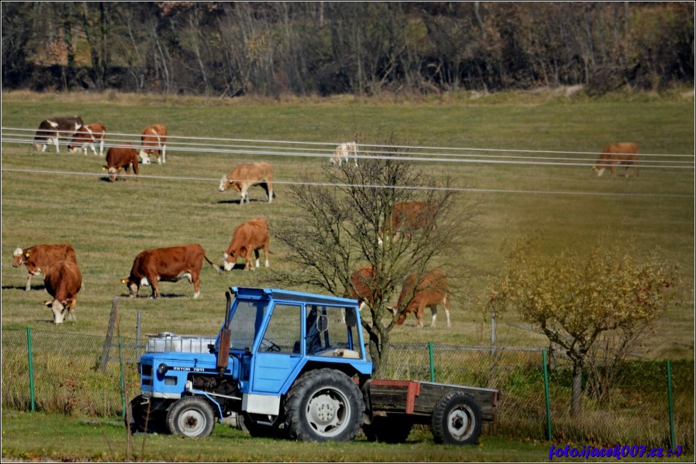
<svg viewBox="0 0 696 464">
<path fill-rule="evenodd" d="M 213 408 L 199 396 L 184 396 L 169 408 L 167 426 L 174 435 L 207 437 L 215 426 Z"/>
</svg>

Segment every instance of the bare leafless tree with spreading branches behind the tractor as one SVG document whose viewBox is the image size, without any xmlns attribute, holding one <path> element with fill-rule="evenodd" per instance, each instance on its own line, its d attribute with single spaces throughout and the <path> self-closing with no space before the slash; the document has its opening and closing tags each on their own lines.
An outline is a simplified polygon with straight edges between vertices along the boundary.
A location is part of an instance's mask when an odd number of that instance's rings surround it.
<svg viewBox="0 0 696 464">
<path fill-rule="evenodd" d="M 340 296 L 360 295 L 351 274 L 365 266 L 374 269 L 371 295 L 363 316 L 370 355 L 377 375 L 383 373 L 389 355 L 389 333 L 396 325 L 406 300 L 394 316 L 387 305 L 408 274 L 417 284 L 434 268 L 446 268 L 446 259 L 459 253 L 475 226 L 476 201 L 464 203 L 450 178 L 440 185 L 408 160 L 406 149 L 393 140 L 365 146 L 358 144 L 358 166 L 351 161 L 324 169 L 325 180 L 306 177 L 292 187 L 292 201 L 303 214 L 276 229 L 276 238 L 287 245 L 295 265 L 276 278 L 291 286 L 315 286 Z M 418 224 L 391 224 L 400 203 L 422 201 L 427 214 Z M 380 244 L 380 238 L 383 238 Z M 445 273 L 448 271 L 445 270 Z M 411 295 L 412 297 L 413 295 Z"/>
</svg>

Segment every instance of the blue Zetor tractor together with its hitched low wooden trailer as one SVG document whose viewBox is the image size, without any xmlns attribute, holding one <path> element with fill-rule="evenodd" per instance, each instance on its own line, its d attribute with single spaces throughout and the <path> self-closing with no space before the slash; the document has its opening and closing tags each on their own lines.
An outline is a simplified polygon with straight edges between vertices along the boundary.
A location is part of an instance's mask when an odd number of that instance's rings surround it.
<svg viewBox="0 0 696 464">
<path fill-rule="evenodd" d="M 427 424 L 436 442 L 470 444 L 495 420 L 497 389 L 373 378 L 361 327 L 357 300 L 230 287 L 215 337 L 150 339 L 127 424 L 204 437 L 231 422 L 252 436 L 316 442 L 361 431 L 403 442 Z"/>
</svg>

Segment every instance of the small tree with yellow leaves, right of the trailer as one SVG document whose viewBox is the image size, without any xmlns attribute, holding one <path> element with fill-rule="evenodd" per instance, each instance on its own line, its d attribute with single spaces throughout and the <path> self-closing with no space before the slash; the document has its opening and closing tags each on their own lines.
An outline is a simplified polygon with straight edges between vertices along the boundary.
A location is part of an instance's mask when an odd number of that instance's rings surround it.
<svg viewBox="0 0 696 464">
<path fill-rule="evenodd" d="M 600 238 L 589 254 L 546 256 L 539 240 L 527 235 L 511 247 L 503 275 L 488 289 L 489 310 L 502 314 L 512 307 L 566 350 L 573 364 L 573 417 L 581 412 L 583 368 L 594 343 L 619 334 L 630 344 L 674 297 L 677 268 L 655 256 L 637 264 L 631 249 L 630 242 Z"/>
</svg>

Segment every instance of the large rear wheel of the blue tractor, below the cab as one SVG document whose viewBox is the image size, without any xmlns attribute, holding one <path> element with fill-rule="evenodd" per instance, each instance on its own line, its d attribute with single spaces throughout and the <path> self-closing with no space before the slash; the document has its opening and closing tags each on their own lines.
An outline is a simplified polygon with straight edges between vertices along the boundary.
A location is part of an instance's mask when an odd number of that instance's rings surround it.
<svg viewBox="0 0 696 464">
<path fill-rule="evenodd" d="M 360 433 L 364 411 L 358 386 L 334 369 L 304 373 L 285 400 L 288 431 L 291 438 L 301 441 L 354 440 Z"/>
</svg>

